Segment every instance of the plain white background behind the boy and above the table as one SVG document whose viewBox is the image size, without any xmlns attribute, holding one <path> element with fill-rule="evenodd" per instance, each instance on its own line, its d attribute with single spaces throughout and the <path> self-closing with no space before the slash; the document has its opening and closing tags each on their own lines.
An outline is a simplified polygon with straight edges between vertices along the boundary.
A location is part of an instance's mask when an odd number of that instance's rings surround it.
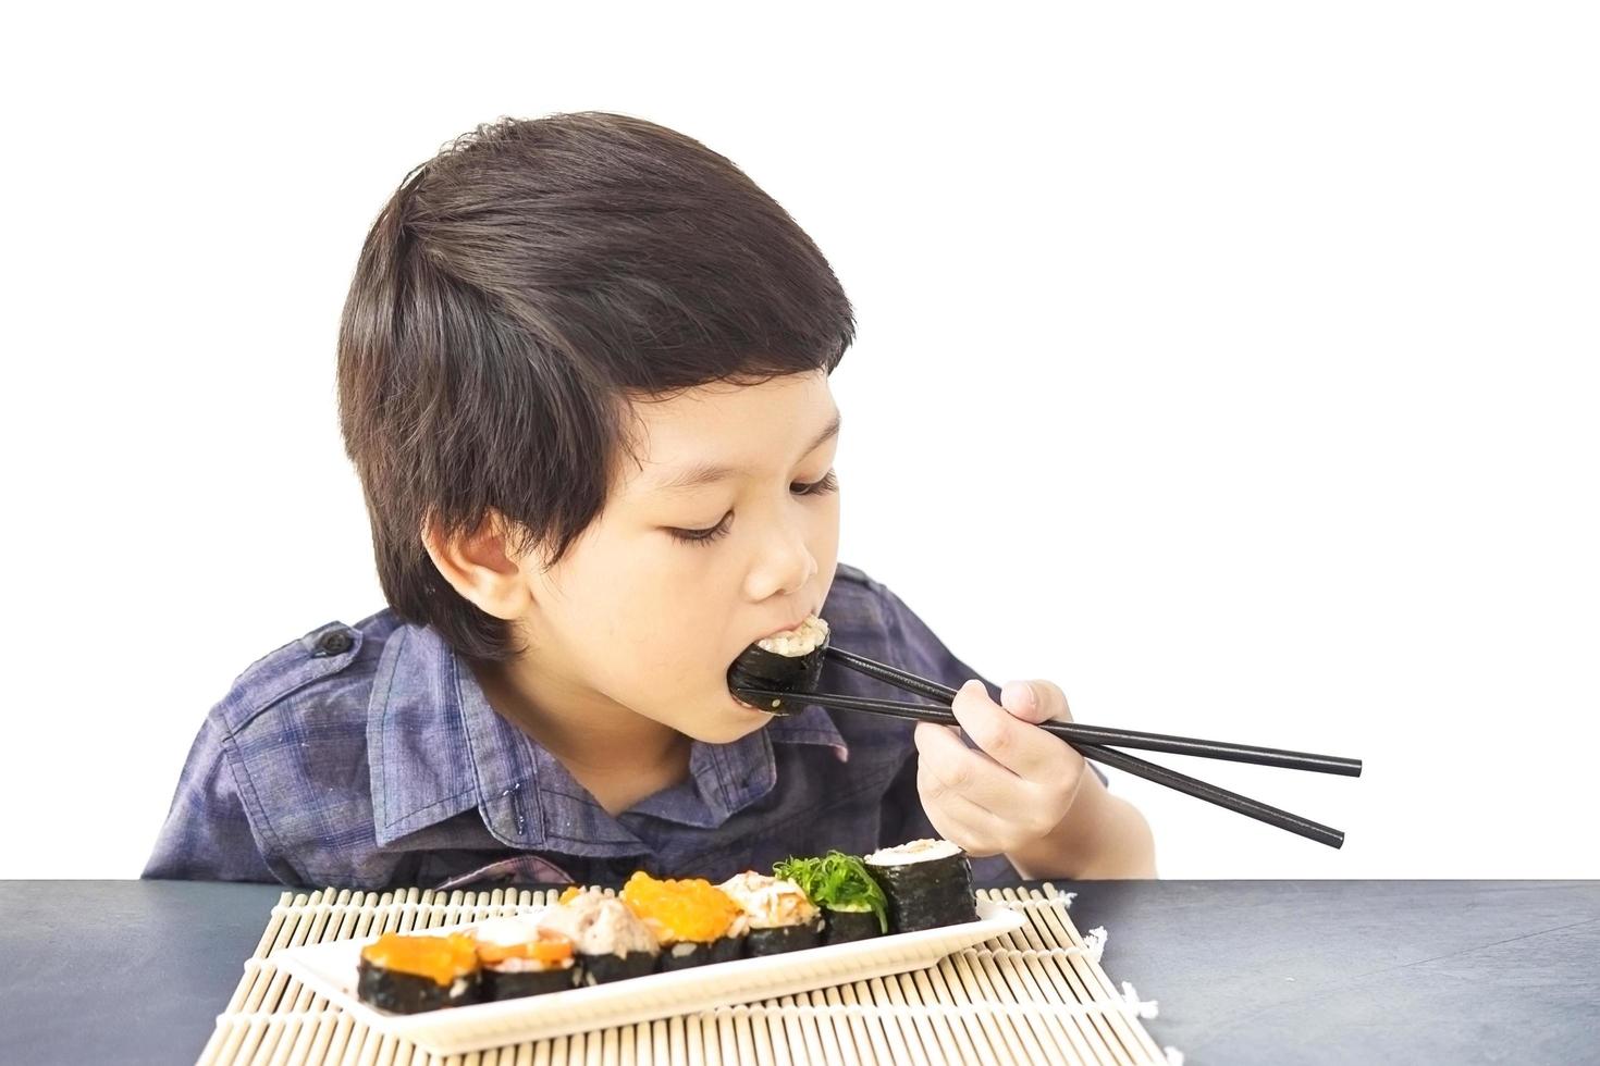
<svg viewBox="0 0 1600 1066">
<path fill-rule="evenodd" d="M 334 419 L 362 238 L 458 133 L 584 109 L 829 256 L 842 556 L 962 658 L 1366 759 L 1163 756 L 1341 852 L 1114 775 L 1162 876 L 1600 876 L 1586 5 L 531 6 L 0 35 L 0 876 L 138 876 L 234 676 L 382 606 Z"/>
</svg>

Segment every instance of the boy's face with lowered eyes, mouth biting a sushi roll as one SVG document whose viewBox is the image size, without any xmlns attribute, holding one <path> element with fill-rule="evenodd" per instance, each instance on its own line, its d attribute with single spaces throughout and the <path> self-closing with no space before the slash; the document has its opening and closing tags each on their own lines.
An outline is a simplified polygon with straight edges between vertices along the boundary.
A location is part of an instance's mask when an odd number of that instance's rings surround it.
<svg viewBox="0 0 1600 1066">
<path fill-rule="evenodd" d="M 547 692 L 738 740 L 771 716 L 733 698 L 730 663 L 819 612 L 834 580 L 838 409 L 814 372 L 634 414 L 638 462 L 624 459 L 602 515 L 550 571 L 522 567 L 525 668 Z"/>
</svg>

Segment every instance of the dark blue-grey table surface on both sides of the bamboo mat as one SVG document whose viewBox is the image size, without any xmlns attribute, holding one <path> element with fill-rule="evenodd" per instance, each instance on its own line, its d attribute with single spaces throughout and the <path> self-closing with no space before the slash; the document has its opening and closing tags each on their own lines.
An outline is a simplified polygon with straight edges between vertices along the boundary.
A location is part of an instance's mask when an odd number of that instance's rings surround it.
<svg viewBox="0 0 1600 1066">
<path fill-rule="evenodd" d="M 1600 1061 L 1595 881 L 1056 885 L 1190 1066 Z M 282 892 L 0 881 L 0 1063 L 192 1063 Z"/>
</svg>

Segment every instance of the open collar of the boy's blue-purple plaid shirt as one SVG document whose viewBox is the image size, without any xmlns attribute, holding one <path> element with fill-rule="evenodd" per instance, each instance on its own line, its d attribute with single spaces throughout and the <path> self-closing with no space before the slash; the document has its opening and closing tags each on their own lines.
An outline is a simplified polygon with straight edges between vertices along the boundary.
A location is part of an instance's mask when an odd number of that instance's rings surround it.
<svg viewBox="0 0 1600 1066">
<path fill-rule="evenodd" d="M 650 852 L 555 756 L 490 706 L 470 666 L 430 626 L 402 625 L 384 642 L 368 703 L 366 738 L 378 844 L 477 807 L 510 847 L 570 855 Z M 726 745 L 690 745 L 690 778 L 621 818 L 654 817 L 715 828 L 778 783 L 773 745 L 850 748 L 819 706 Z"/>
</svg>

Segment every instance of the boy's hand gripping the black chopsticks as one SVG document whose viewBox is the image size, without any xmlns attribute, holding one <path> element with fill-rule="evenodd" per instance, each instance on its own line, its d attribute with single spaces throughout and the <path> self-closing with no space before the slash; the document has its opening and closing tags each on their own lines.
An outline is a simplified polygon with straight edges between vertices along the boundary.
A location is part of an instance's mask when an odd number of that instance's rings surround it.
<svg viewBox="0 0 1600 1066">
<path fill-rule="evenodd" d="M 981 681 L 968 681 L 950 710 L 960 730 L 917 722 L 915 732 L 917 791 L 933 828 L 984 857 L 1016 852 L 1061 825 L 1083 782 L 1083 756 L 1037 727 L 1072 721 L 1061 689 L 1008 681 L 995 703 Z"/>
</svg>

